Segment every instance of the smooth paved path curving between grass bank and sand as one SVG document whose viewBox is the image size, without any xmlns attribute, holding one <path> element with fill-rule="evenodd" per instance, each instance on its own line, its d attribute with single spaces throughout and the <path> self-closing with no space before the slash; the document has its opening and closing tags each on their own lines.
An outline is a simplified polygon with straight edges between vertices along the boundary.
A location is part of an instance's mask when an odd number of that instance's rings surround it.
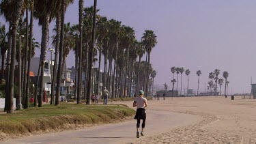
<svg viewBox="0 0 256 144">
<path fill-rule="evenodd" d="M 195 124 L 201 117 L 171 111 L 155 111 L 147 109 L 145 136 L 167 132 L 180 126 Z M 189 119 L 189 120 L 188 120 Z M 68 130 L 52 134 L 28 136 L 23 139 L 0 141 L 6 144 L 41 144 L 41 143 L 133 143 L 136 137 L 136 120 L 125 121 L 119 124 L 94 126 L 81 130 Z"/>
</svg>

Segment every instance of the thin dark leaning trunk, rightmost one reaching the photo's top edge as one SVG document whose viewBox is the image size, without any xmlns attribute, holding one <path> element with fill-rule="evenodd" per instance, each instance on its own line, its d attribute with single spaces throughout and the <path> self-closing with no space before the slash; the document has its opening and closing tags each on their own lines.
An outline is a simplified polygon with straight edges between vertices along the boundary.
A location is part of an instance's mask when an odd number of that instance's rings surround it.
<svg viewBox="0 0 256 144">
<path fill-rule="evenodd" d="M 95 31 L 96 31 L 96 13 L 97 13 L 97 0 L 94 0 L 94 19 L 92 25 L 92 36 L 91 36 L 91 49 L 89 55 L 89 79 L 88 79 L 88 86 L 87 86 L 87 98 L 86 104 L 91 104 L 91 76 L 92 76 L 92 64 L 94 59 L 94 42 L 95 42 Z"/>
</svg>

